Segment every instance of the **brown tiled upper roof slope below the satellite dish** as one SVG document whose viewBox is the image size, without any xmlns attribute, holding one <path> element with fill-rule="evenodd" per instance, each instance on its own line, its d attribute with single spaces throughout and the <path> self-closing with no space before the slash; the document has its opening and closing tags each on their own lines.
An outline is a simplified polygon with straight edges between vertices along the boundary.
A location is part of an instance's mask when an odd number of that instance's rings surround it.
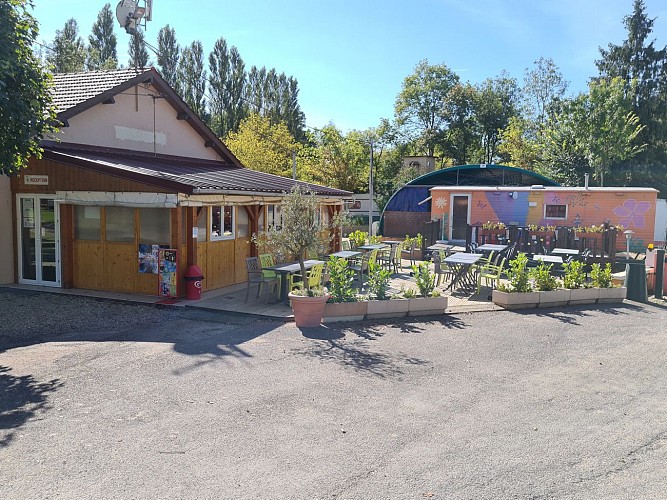
<svg viewBox="0 0 667 500">
<path fill-rule="evenodd" d="M 52 89 L 56 112 L 61 113 L 73 108 L 145 72 L 128 68 L 86 73 L 57 73 L 53 75 Z"/>
</svg>

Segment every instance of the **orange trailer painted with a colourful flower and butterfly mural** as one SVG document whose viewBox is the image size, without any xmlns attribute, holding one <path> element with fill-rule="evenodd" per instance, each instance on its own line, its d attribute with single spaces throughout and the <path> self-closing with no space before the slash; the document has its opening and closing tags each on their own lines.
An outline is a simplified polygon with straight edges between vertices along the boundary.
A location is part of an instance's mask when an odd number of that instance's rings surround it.
<svg viewBox="0 0 667 500">
<path fill-rule="evenodd" d="M 634 231 L 635 244 L 645 244 L 654 237 L 657 195 L 652 188 L 628 187 L 434 187 L 431 219 L 444 219 L 450 238 L 462 216 L 473 225 L 590 227 L 606 222 Z M 623 248 L 625 239 L 618 245 Z"/>
</svg>

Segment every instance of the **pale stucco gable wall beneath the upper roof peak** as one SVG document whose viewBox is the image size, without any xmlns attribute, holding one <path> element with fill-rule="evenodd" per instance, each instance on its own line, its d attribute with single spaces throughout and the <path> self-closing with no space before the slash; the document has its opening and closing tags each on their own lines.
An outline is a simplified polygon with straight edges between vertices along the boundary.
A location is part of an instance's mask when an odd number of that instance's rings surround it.
<svg viewBox="0 0 667 500">
<path fill-rule="evenodd" d="M 69 127 L 58 134 L 60 141 L 219 159 L 186 120 L 176 119 L 176 110 L 152 85 L 135 88 L 116 95 L 114 104 L 98 104 L 69 119 Z"/>
</svg>

